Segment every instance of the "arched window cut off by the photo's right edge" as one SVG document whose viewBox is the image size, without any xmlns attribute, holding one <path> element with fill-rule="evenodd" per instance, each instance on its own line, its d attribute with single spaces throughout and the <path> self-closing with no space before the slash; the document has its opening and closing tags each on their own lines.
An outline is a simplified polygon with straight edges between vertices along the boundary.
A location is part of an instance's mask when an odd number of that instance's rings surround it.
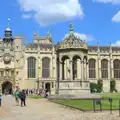
<svg viewBox="0 0 120 120">
<path fill-rule="evenodd" d="M 120 60 L 113 61 L 114 78 L 120 78 Z"/>
</svg>

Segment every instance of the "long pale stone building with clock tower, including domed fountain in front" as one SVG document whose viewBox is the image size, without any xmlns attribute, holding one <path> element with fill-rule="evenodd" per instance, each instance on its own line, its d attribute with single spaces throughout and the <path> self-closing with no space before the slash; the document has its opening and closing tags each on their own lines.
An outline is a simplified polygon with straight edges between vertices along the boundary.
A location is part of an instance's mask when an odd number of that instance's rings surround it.
<svg viewBox="0 0 120 120">
<path fill-rule="evenodd" d="M 103 91 L 110 91 L 110 80 L 120 91 L 120 47 L 88 46 L 70 31 L 61 43 L 52 36 L 34 32 L 34 42 L 25 44 L 12 36 L 8 27 L 0 39 L 0 87 L 5 90 L 47 89 L 51 94 L 90 93 L 90 82 L 103 80 Z"/>
</svg>

